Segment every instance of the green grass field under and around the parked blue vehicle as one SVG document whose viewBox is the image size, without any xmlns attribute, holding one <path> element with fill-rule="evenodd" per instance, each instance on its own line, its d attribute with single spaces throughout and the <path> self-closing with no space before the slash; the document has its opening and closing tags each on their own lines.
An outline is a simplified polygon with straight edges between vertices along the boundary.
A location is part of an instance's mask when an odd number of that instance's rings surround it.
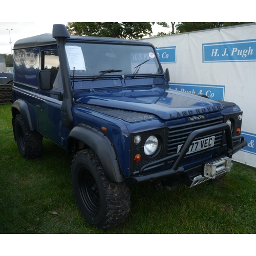
<svg viewBox="0 0 256 256">
<path fill-rule="evenodd" d="M 252 234 L 256 232 L 256 170 L 233 163 L 214 184 L 180 185 L 162 193 L 131 189 L 126 221 L 102 231 L 84 220 L 74 200 L 72 158 L 44 138 L 42 157 L 27 160 L 13 139 L 11 105 L 0 105 L 0 233 L 2 234 Z"/>
</svg>

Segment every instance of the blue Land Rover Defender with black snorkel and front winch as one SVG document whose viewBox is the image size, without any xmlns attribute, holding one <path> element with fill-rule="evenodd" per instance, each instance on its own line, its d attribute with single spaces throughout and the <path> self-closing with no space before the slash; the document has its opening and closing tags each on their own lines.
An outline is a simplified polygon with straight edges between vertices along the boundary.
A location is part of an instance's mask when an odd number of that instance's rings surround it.
<svg viewBox="0 0 256 256">
<path fill-rule="evenodd" d="M 148 42 L 52 34 L 14 45 L 12 125 L 20 155 L 39 157 L 46 137 L 73 155 L 78 208 L 112 228 L 130 210 L 129 187 L 173 190 L 230 172 L 246 146 L 239 106 L 170 90 Z"/>
</svg>

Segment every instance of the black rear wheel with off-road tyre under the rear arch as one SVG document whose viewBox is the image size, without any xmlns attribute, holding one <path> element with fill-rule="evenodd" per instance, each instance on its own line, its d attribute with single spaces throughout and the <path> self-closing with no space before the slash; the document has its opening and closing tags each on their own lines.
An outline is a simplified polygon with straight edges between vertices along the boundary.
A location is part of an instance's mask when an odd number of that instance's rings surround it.
<svg viewBox="0 0 256 256">
<path fill-rule="evenodd" d="M 42 135 L 36 131 L 28 131 L 22 115 L 15 117 L 14 134 L 21 156 L 29 159 L 42 154 Z"/>
</svg>

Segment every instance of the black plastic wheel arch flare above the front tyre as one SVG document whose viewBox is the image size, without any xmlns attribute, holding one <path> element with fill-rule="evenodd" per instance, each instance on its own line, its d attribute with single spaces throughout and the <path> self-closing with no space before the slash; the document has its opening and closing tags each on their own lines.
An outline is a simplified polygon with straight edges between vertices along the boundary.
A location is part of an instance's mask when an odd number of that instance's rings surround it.
<svg viewBox="0 0 256 256">
<path fill-rule="evenodd" d="M 75 139 L 83 142 L 95 152 L 109 181 L 124 182 L 114 145 L 105 133 L 91 125 L 79 123 L 71 130 L 67 139 L 69 155 L 72 154 Z"/>
</svg>

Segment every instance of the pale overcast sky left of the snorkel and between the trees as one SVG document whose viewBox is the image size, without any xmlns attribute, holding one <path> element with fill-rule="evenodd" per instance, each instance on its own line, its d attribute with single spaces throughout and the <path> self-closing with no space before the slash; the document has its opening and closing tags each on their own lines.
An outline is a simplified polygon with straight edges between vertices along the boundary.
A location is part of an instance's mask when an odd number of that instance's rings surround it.
<svg viewBox="0 0 256 256">
<path fill-rule="evenodd" d="M 44 33 L 52 33 L 53 24 L 67 25 L 69 21 L 67 19 L 59 19 L 57 22 L 1 22 L 0 21 L 0 53 L 10 54 L 11 44 L 12 49 L 14 43 L 22 38 L 35 36 Z M 170 23 L 168 23 L 170 25 Z M 159 31 L 168 32 L 172 28 L 163 28 L 158 25 L 153 26 L 153 35 L 156 35 Z"/>
</svg>

